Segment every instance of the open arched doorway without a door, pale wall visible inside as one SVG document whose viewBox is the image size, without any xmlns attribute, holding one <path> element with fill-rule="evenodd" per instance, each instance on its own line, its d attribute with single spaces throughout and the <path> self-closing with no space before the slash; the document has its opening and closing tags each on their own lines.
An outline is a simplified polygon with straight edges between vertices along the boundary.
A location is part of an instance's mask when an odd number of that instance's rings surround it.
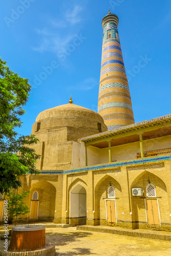
<svg viewBox="0 0 171 256">
<path fill-rule="evenodd" d="M 70 224 L 86 225 L 87 220 L 87 193 L 86 189 L 78 184 L 71 189 Z"/>
</svg>

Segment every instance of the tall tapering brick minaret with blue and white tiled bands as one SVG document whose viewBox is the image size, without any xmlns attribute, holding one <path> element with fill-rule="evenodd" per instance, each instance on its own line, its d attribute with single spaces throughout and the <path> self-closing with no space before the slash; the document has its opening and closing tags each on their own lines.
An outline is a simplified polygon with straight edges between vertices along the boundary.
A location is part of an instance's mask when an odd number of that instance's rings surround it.
<svg viewBox="0 0 171 256">
<path fill-rule="evenodd" d="M 118 16 L 102 19 L 103 47 L 98 113 L 108 130 L 134 123 L 134 114 L 118 35 Z"/>
</svg>

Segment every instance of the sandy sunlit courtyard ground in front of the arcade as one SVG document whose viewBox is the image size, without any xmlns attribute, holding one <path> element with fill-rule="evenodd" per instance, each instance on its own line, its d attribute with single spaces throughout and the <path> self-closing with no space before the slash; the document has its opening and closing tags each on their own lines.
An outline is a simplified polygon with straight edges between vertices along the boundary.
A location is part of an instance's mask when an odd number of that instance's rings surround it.
<svg viewBox="0 0 171 256">
<path fill-rule="evenodd" d="M 0 231 L 0 235 L 4 231 Z M 46 228 L 46 240 L 55 244 L 55 256 L 101 255 L 101 256 L 169 256 L 171 242 L 134 238 L 109 233 L 76 230 L 76 227 Z M 0 240 L 0 250 L 3 250 Z"/>
</svg>

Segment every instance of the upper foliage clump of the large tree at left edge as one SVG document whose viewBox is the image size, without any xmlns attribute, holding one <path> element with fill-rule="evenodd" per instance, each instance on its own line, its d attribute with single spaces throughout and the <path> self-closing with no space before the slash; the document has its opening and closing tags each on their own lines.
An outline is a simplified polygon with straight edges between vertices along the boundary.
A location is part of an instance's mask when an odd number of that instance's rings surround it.
<svg viewBox="0 0 171 256">
<path fill-rule="evenodd" d="M 14 131 L 20 127 L 23 106 L 27 103 L 31 86 L 28 79 L 12 72 L 6 61 L 0 58 L 0 138 L 11 139 L 16 136 Z"/>
</svg>

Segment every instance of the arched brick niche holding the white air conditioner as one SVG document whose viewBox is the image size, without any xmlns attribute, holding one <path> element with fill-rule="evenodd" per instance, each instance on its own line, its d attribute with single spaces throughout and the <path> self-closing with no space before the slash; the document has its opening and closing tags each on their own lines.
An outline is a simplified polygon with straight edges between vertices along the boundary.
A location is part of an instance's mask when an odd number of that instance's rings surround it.
<svg viewBox="0 0 171 256">
<path fill-rule="evenodd" d="M 148 195 L 147 187 L 153 188 L 154 193 Z M 132 188 L 142 188 L 143 197 L 133 196 Z M 152 204 L 156 200 L 156 209 L 154 210 L 152 218 L 158 218 L 159 221 L 158 224 L 155 225 L 161 225 L 162 223 L 169 224 L 169 205 L 166 185 L 164 181 L 158 177 L 157 172 L 155 175 L 145 170 L 144 172 L 139 174 L 131 184 L 133 228 L 143 228 L 147 224 L 151 225 L 151 223 L 149 222 L 149 212 L 153 212 L 153 205 L 151 204 L 151 202 L 149 203 L 150 199 L 153 200 Z"/>
</svg>

